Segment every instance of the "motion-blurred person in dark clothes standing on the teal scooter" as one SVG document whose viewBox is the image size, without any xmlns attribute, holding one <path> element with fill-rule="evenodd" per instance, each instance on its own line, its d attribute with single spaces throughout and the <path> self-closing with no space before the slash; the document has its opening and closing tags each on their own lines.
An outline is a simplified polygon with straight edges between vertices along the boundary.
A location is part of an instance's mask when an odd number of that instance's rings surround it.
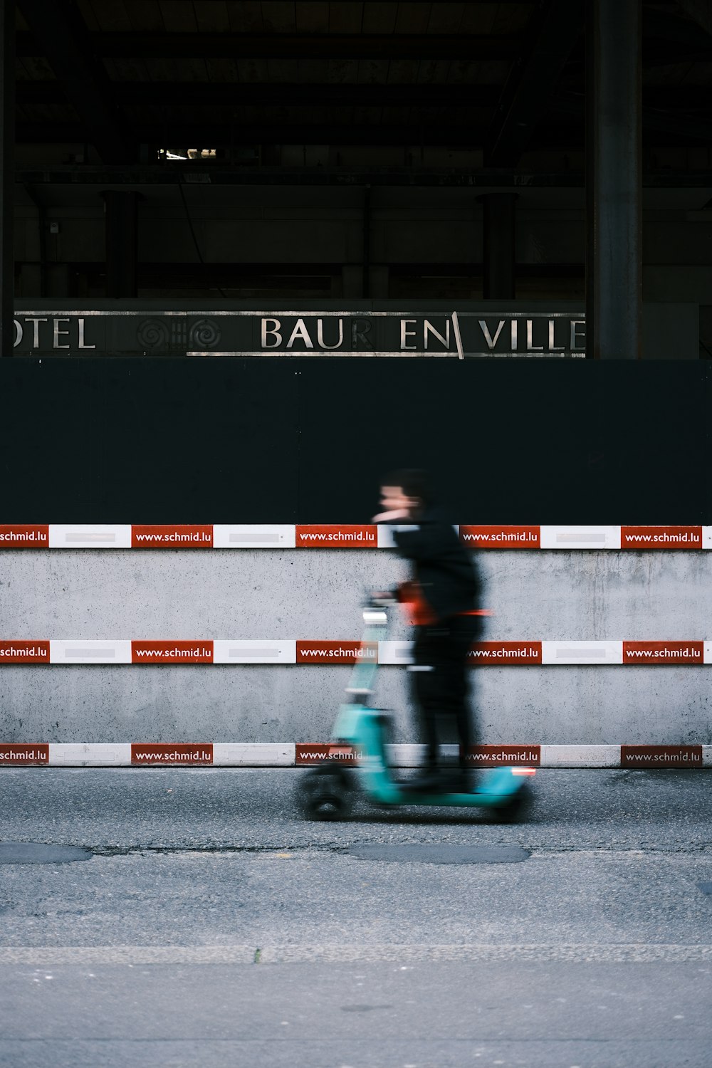
<svg viewBox="0 0 712 1068">
<path fill-rule="evenodd" d="M 424 471 L 392 471 L 381 480 L 381 507 L 373 522 L 393 527 L 400 556 L 410 561 L 410 581 L 395 596 L 409 609 L 414 627 L 413 694 L 426 744 L 426 761 L 409 786 L 466 791 L 472 786 L 468 755 L 473 731 L 468 707 L 468 651 L 482 632 L 481 582 L 471 553 L 452 523 L 433 505 Z M 456 767 L 439 760 L 446 720 L 459 741 Z"/>
</svg>

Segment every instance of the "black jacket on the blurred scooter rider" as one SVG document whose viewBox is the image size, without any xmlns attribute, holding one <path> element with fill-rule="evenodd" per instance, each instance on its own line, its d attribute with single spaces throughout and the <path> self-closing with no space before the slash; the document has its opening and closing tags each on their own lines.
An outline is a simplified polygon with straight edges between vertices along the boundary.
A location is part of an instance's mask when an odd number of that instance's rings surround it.
<svg viewBox="0 0 712 1068">
<path fill-rule="evenodd" d="M 473 556 L 437 511 L 392 525 L 398 554 L 411 561 L 412 578 L 438 619 L 481 607 L 481 582 Z"/>
</svg>

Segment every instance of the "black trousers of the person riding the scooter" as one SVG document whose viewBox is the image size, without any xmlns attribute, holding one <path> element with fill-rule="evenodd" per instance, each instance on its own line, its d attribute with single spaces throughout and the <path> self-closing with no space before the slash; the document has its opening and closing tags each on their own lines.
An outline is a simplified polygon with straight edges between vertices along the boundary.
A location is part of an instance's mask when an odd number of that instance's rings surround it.
<svg viewBox="0 0 712 1068">
<path fill-rule="evenodd" d="M 415 628 L 411 668 L 415 704 L 426 744 L 426 767 L 438 766 L 438 744 L 442 727 L 453 720 L 460 744 L 459 766 L 466 759 L 474 734 L 468 708 L 468 651 L 481 634 L 476 615 L 454 615 L 438 624 Z"/>
</svg>

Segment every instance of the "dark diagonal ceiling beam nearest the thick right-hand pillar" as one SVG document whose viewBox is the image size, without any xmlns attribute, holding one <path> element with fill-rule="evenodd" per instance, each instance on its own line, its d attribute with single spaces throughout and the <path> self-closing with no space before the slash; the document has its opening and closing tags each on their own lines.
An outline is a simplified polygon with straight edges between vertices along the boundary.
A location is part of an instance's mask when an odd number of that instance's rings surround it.
<svg viewBox="0 0 712 1068">
<path fill-rule="evenodd" d="M 522 156 L 549 109 L 554 88 L 584 30 L 583 0 L 541 0 L 532 20 L 531 47 L 515 63 L 487 139 L 488 167 Z"/>
</svg>

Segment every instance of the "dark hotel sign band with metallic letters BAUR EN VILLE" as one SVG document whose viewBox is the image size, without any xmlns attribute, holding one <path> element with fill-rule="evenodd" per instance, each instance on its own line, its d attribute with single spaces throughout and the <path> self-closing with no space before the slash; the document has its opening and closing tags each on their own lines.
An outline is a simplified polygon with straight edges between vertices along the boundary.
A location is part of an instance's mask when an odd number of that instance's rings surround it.
<svg viewBox="0 0 712 1068">
<path fill-rule="evenodd" d="M 15 356 L 583 357 L 584 313 L 25 311 Z"/>
</svg>

